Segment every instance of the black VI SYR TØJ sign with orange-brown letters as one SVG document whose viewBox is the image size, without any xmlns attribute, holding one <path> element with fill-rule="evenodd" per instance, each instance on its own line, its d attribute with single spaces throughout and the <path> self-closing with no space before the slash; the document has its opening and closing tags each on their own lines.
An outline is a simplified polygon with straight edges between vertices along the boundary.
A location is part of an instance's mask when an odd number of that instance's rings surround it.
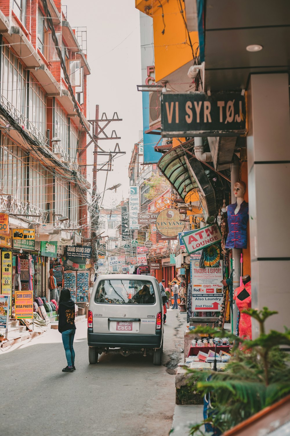
<svg viewBox="0 0 290 436">
<path fill-rule="evenodd" d="M 162 136 L 240 136 L 246 103 L 240 92 L 161 94 Z"/>
</svg>

